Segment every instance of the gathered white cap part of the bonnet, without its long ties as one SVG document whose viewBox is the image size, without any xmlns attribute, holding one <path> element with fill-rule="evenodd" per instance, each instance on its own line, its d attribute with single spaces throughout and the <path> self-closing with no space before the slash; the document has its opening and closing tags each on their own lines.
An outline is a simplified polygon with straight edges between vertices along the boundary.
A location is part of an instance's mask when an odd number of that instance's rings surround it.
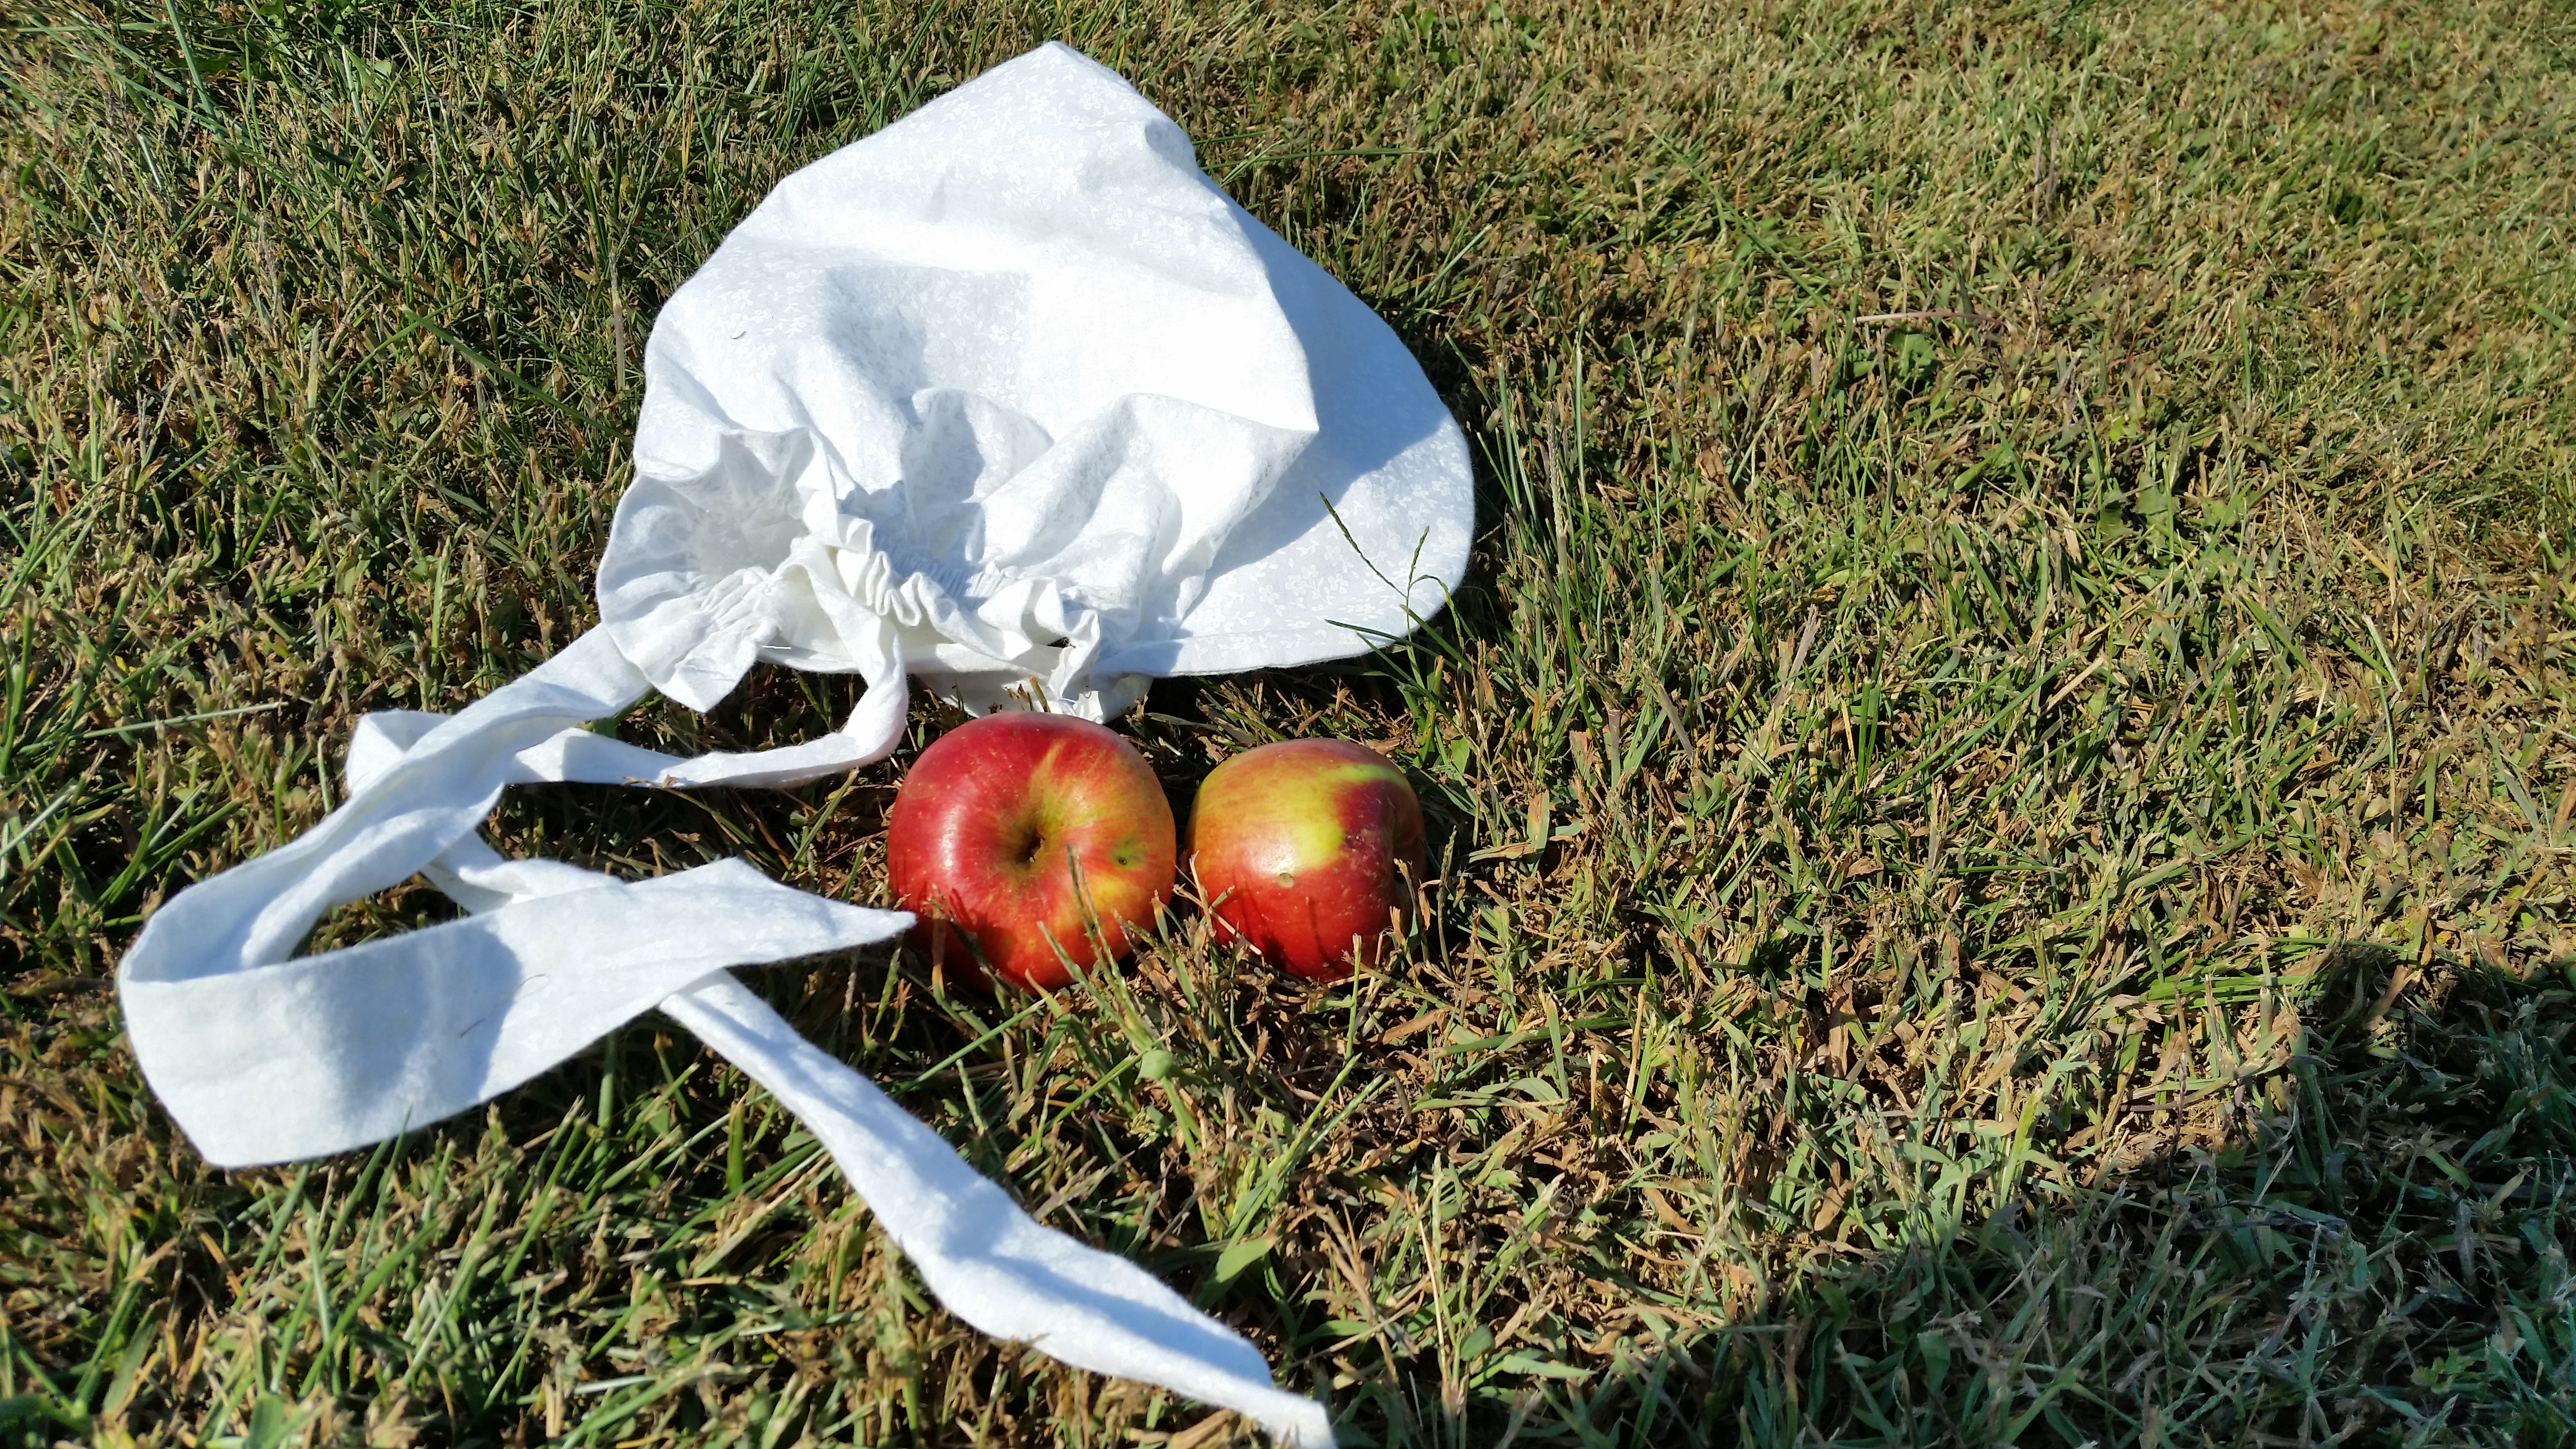
<svg viewBox="0 0 2576 1449">
<path fill-rule="evenodd" d="M 672 294 L 600 621 L 698 709 L 765 657 L 1100 719 L 1409 632 L 1471 523 L 1386 322 L 1048 44 L 799 170 Z"/>
</svg>

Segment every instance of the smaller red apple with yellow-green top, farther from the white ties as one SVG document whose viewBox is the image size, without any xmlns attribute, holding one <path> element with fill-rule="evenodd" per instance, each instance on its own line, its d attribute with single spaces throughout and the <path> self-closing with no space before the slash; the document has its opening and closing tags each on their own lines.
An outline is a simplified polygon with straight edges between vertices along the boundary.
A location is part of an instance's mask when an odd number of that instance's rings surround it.
<svg viewBox="0 0 2576 1449">
<path fill-rule="evenodd" d="M 1218 933 L 1309 980 L 1376 967 L 1422 871 L 1414 786 L 1350 740 L 1244 750 L 1190 810 L 1190 874 Z"/>
</svg>

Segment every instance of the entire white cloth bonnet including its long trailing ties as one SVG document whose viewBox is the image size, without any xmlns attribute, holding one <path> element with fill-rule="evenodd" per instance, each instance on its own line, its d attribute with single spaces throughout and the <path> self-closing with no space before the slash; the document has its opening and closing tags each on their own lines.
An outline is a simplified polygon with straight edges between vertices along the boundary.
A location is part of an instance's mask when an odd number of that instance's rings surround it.
<svg viewBox="0 0 2576 1449">
<path fill-rule="evenodd" d="M 209 1163 L 343 1152 L 466 1111 L 662 1011 L 824 1142 L 966 1323 L 1332 1444 L 1321 1405 L 1133 1263 L 1036 1225 L 726 967 L 912 918 L 742 861 L 623 882 L 502 859 L 531 781 L 791 784 L 884 758 L 907 676 L 1105 719 L 1159 676 L 1363 652 L 1466 567 L 1466 441 L 1396 335 L 1066 46 L 778 186 L 644 351 L 600 627 L 464 712 L 379 712 L 348 797 L 178 892 L 118 967 L 134 1055 Z M 783 750 L 680 761 L 590 730 L 708 709 L 755 660 L 866 678 Z M 466 915 L 296 957 L 425 874 Z"/>
</svg>

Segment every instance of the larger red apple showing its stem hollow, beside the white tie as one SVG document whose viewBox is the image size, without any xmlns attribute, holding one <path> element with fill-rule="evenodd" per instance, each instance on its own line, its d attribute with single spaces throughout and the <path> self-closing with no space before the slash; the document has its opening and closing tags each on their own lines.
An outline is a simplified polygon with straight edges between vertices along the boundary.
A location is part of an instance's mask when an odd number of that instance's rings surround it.
<svg viewBox="0 0 2576 1449">
<path fill-rule="evenodd" d="M 1172 897 L 1172 804 L 1100 724 L 987 714 L 940 735 L 894 792 L 886 874 L 933 962 L 974 972 L 981 951 L 1005 980 L 1061 987 L 1066 959 L 1126 957 L 1128 928 Z"/>
</svg>

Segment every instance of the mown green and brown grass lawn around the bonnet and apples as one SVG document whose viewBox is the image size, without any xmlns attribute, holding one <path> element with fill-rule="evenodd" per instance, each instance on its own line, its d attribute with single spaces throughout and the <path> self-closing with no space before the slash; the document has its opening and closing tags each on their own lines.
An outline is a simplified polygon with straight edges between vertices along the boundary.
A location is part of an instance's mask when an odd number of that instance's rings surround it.
<svg viewBox="0 0 2576 1449">
<path fill-rule="evenodd" d="M 938 1312 L 657 1018 L 216 1173 L 111 990 L 332 804 L 361 712 L 590 624 L 647 327 L 770 183 L 1043 39 L 1468 425 L 1448 616 L 1128 722 L 1182 807 L 1378 743 L 1435 913 L 1337 990 L 1190 913 L 1090 998 L 755 972 L 809 1036 L 1347 1444 L 2576 1439 L 2563 0 L 0 26 L 0 1446 L 1239 1434 Z M 884 900 L 902 763 L 526 789 L 495 838 Z"/>
</svg>

